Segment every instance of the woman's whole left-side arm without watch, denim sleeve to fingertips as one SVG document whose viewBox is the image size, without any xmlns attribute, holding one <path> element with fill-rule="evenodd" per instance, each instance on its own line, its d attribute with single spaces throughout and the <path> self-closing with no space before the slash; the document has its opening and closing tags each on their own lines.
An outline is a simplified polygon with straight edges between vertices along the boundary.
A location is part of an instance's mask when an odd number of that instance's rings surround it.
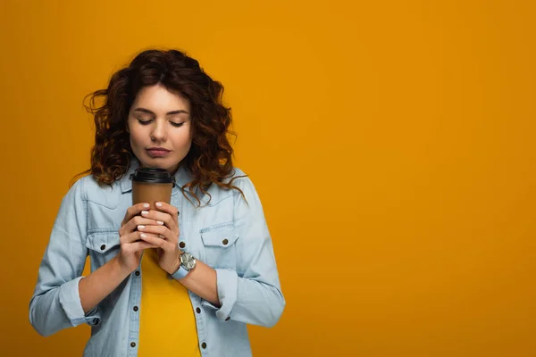
<svg viewBox="0 0 536 357">
<path fill-rule="evenodd" d="M 97 304 L 136 269 L 143 249 L 155 248 L 137 242 L 137 224 L 154 223 L 134 216 L 143 203 L 130 207 L 121 222 L 121 250 L 105 265 L 82 278 L 87 248 L 87 207 L 83 179 L 65 195 L 54 222 L 46 253 L 38 272 L 38 284 L 29 303 L 29 321 L 42 336 L 50 336 L 81 323 L 96 325 Z"/>
</svg>

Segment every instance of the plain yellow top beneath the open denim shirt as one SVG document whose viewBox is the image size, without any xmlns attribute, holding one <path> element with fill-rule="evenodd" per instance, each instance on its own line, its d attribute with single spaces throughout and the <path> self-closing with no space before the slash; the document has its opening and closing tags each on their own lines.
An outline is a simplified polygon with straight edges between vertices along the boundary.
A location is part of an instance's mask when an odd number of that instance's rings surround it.
<svg viewBox="0 0 536 357">
<path fill-rule="evenodd" d="M 196 317 L 188 290 L 158 266 L 155 249 L 141 260 L 139 345 L 141 357 L 200 357 Z"/>
</svg>

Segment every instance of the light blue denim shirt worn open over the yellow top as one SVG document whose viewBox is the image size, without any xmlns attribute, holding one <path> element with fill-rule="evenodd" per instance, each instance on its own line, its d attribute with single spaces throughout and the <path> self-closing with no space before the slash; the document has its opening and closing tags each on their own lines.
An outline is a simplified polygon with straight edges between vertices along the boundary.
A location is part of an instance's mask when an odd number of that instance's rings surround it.
<svg viewBox="0 0 536 357">
<path fill-rule="evenodd" d="M 134 307 L 141 303 L 141 266 L 86 314 L 78 287 L 88 255 L 95 271 L 119 252 L 118 231 L 132 205 L 130 174 L 136 168 L 133 161 L 111 187 L 84 177 L 63 197 L 29 303 L 30 323 L 42 336 L 90 325 L 84 356 L 138 355 L 139 311 Z M 234 175 L 244 173 L 235 169 Z M 177 170 L 172 189 L 172 205 L 180 212 L 179 242 L 216 270 L 221 304 L 217 308 L 188 291 L 194 311 L 201 309 L 194 313 L 199 350 L 202 356 L 250 356 L 247 324 L 272 327 L 285 306 L 263 208 L 247 177 L 233 181 L 247 201 L 235 189 L 212 185 L 210 200 L 201 195 L 200 206 L 188 190 L 191 203 L 182 194 L 180 187 L 191 179 L 186 170 Z M 166 333 L 177 340 L 180 355 L 180 336 Z"/>
</svg>

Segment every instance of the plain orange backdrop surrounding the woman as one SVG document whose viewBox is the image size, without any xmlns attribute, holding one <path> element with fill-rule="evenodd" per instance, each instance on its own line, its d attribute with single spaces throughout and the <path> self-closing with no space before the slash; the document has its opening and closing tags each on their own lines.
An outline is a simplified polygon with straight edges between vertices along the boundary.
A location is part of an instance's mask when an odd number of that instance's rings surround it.
<svg viewBox="0 0 536 357">
<path fill-rule="evenodd" d="M 113 4 L 108 4 L 113 3 Z M 195 3 L 195 4 L 194 4 Z M 264 4 L 262 4 L 264 3 Z M 81 105 L 150 46 L 226 87 L 287 308 L 255 356 L 536 355 L 532 1 L 2 1 L 3 356 L 88 168 Z"/>
</svg>

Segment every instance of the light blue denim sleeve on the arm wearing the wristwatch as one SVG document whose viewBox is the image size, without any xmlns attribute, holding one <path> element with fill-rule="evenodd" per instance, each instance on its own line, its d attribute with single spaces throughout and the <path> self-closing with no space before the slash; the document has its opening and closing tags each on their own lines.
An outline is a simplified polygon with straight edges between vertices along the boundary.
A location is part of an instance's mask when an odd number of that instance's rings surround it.
<svg viewBox="0 0 536 357">
<path fill-rule="evenodd" d="M 217 290 L 221 308 L 216 316 L 225 320 L 272 327 L 280 319 L 285 307 L 272 238 L 264 219 L 264 211 L 249 178 L 236 179 L 247 202 L 235 195 L 234 226 L 239 239 L 238 274 L 235 270 L 216 269 Z"/>
</svg>

